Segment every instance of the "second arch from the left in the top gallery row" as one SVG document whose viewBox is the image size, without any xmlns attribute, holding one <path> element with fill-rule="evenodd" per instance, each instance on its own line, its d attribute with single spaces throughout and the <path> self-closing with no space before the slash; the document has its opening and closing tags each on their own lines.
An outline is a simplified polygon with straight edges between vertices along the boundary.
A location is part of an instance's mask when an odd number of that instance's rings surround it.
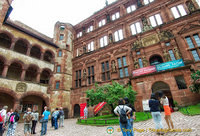
<svg viewBox="0 0 200 136">
<path fill-rule="evenodd" d="M 29 42 L 26 39 L 19 38 L 14 46 L 14 51 L 26 54 L 28 50 Z"/>
</svg>

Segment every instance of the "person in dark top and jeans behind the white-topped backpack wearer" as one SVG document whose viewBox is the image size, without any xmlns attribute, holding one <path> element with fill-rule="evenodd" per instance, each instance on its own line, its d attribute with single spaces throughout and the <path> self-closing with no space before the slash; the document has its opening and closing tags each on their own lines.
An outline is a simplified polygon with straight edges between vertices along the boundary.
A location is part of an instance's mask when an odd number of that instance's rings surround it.
<svg viewBox="0 0 200 136">
<path fill-rule="evenodd" d="M 136 119 L 135 108 L 134 108 L 134 106 L 132 104 L 129 103 L 128 97 L 125 97 L 124 101 L 125 101 L 125 105 L 132 109 L 131 113 L 128 115 L 128 121 L 130 122 L 129 124 L 131 125 L 129 127 L 129 128 L 131 128 L 131 135 L 134 136 L 133 121 Z"/>
</svg>

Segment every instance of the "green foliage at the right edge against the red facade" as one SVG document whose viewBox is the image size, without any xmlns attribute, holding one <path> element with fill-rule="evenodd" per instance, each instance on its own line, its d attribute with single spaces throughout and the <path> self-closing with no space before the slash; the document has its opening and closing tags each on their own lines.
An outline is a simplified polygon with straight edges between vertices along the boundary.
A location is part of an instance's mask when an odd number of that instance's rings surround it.
<svg viewBox="0 0 200 136">
<path fill-rule="evenodd" d="M 196 72 L 191 74 L 191 78 L 193 80 L 192 84 L 190 85 L 190 91 L 195 93 L 200 93 L 200 71 L 197 70 Z"/>
</svg>

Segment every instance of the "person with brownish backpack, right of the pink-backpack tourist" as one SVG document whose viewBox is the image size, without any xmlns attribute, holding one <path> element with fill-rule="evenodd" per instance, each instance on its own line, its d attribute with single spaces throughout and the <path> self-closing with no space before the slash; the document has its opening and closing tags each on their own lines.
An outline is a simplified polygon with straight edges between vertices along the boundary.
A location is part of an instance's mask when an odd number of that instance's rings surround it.
<svg viewBox="0 0 200 136">
<path fill-rule="evenodd" d="M 25 136 L 31 136 L 31 126 L 33 120 L 33 114 L 31 112 L 31 108 L 27 109 L 27 112 L 23 116 L 24 119 L 24 134 Z"/>
</svg>

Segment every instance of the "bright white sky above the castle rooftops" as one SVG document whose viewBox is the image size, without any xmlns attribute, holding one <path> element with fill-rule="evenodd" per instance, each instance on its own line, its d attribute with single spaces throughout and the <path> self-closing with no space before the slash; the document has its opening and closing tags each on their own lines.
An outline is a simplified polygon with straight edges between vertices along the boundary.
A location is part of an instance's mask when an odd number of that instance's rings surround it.
<svg viewBox="0 0 200 136">
<path fill-rule="evenodd" d="M 10 19 L 53 37 L 57 21 L 76 25 L 105 7 L 106 0 L 13 0 Z M 108 0 L 108 4 L 116 0 Z"/>
</svg>

